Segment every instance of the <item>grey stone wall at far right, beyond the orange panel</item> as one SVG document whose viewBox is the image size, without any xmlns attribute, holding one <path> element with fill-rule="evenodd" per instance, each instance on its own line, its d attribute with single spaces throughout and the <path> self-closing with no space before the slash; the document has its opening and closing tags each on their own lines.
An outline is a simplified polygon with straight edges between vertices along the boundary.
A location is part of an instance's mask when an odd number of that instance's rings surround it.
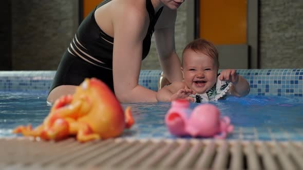
<svg viewBox="0 0 303 170">
<path fill-rule="evenodd" d="M 259 2 L 261 68 L 303 68 L 303 1 Z"/>
</svg>

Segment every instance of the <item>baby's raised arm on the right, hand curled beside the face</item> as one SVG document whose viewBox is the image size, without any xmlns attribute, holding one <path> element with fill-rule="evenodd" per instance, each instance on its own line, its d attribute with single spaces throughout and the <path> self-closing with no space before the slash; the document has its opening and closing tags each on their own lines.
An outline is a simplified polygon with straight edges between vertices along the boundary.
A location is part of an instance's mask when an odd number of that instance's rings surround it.
<svg viewBox="0 0 303 170">
<path fill-rule="evenodd" d="M 242 97 L 248 95 L 250 92 L 248 81 L 244 77 L 238 75 L 236 70 L 222 70 L 219 79 L 233 83 L 233 86 L 230 88 L 230 94 L 233 96 Z"/>
</svg>

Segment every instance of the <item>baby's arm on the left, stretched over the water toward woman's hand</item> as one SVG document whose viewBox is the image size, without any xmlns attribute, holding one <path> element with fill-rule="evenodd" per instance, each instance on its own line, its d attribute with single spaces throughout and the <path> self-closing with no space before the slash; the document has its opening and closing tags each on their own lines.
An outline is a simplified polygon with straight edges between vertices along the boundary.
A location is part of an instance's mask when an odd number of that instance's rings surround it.
<svg viewBox="0 0 303 170">
<path fill-rule="evenodd" d="M 165 86 L 159 90 L 156 94 L 156 98 L 159 102 L 171 102 L 178 98 L 194 101 L 192 97 L 189 97 L 189 95 L 193 93 L 193 90 L 185 89 L 184 82 L 173 82 L 169 86 Z"/>
</svg>

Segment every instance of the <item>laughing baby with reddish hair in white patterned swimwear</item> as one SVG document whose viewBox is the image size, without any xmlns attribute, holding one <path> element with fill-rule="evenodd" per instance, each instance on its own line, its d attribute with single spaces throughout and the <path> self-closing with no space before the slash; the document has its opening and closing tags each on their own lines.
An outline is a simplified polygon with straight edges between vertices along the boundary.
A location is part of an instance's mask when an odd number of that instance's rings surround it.
<svg viewBox="0 0 303 170">
<path fill-rule="evenodd" d="M 219 59 L 215 46 L 205 39 L 196 39 L 183 50 L 183 81 L 164 86 L 157 100 L 170 102 L 184 98 L 191 102 L 214 101 L 226 95 L 245 96 L 250 92 L 246 79 L 236 70 L 222 70 L 218 75 Z"/>
</svg>

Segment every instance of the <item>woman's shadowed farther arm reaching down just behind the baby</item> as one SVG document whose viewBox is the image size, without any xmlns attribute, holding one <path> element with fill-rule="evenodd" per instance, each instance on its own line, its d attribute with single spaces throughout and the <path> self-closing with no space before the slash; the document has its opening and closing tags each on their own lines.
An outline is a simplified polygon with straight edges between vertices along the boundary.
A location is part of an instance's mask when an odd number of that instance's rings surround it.
<svg viewBox="0 0 303 170">
<path fill-rule="evenodd" d="M 169 82 L 182 81 L 181 62 L 175 50 L 175 22 L 177 10 L 163 8 L 155 26 L 159 61 Z"/>
</svg>

